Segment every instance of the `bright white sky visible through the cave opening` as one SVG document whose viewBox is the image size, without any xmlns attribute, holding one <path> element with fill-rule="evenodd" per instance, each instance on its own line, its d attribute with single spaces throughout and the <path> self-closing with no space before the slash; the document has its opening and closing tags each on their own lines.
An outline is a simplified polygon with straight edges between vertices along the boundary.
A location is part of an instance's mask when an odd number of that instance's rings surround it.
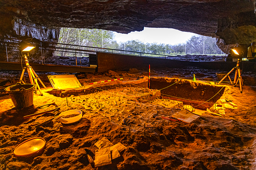
<svg viewBox="0 0 256 170">
<path fill-rule="evenodd" d="M 129 34 L 121 34 L 114 32 L 117 43 L 126 42 L 129 40 L 140 40 L 145 43 L 162 43 L 162 44 L 179 44 L 185 43 L 193 35 L 191 32 L 183 32 L 172 28 L 147 28 L 143 31 L 134 31 Z"/>
</svg>

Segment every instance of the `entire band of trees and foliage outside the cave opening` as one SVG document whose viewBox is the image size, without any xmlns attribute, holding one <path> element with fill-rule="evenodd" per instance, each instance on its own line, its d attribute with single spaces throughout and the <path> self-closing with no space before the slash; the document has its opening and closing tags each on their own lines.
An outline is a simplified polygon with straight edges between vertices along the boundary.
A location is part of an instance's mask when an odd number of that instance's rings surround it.
<svg viewBox="0 0 256 170">
<path fill-rule="evenodd" d="M 205 54 L 217 55 L 221 54 L 221 50 L 216 45 L 216 39 L 212 37 L 194 35 L 186 43 L 179 43 L 175 45 L 158 44 L 158 43 L 144 43 L 140 40 L 131 40 L 117 43 L 113 41 L 114 33 L 112 31 L 98 30 L 98 29 L 77 29 L 77 28 L 61 28 L 59 43 L 73 44 L 88 47 L 76 47 L 77 49 L 95 50 L 89 47 L 102 47 L 106 52 L 125 53 L 135 55 L 145 55 L 143 53 L 161 54 L 161 55 L 185 55 L 186 54 Z M 59 47 L 71 47 L 70 45 L 59 45 Z M 72 47 L 74 48 L 74 46 Z M 116 50 L 112 50 L 116 49 Z M 101 51 L 101 49 L 98 49 Z M 118 51 L 118 50 L 126 50 Z M 128 52 L 135 51 L 135 52 Z M 141 54 L 142 53 L 142 54 Z M 62 51 L 60 55 L 68 55 L 67 51 Z M 147 54 L 150 56 L 150 54 Z"/>
</svg>

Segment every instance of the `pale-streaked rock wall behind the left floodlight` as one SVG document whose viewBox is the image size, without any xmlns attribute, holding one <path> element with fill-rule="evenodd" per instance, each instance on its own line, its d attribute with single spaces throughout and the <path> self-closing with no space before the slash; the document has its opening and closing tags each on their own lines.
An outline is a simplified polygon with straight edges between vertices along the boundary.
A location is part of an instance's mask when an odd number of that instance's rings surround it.
<svg viewBox="0 0 256 170">
<path fill-rule="evenodd" d="M 0 20 L 0 24 L 4 25 L 4 27 L 1 27 L 0 29 L 0 41 L 19 43 L 21 40 L 30 38 L 32 40 L 31 42 L 36 45 L 36 48 L 29 52 L 29 60 L 42 58 L 42 56 L 50 57 L 53 55 L 52 51 L 44 51 L 44 49 L 42 49 L 42 51 L 40 46 L 41 42 L 42 46 L 52 45 L 44 42 L 57 43 L 59 39 L 60 27 L 37 25 L 32 21 L 20 19 L 17 17 L 11 19 L 10 17 L 2 16 L 1 18 L 2 19 Z M 11 40 L 8 38 L 16 38 L 20 40 Z M 7 57 L 8 61 L 21 61 L 20 51 L 17 45 L 8 43 L 2 45 L 3 46 L 0 46 L 0 61 L 7 61 Z M 5 47 L 5 45 L 7 47 Z"/>
</svg>

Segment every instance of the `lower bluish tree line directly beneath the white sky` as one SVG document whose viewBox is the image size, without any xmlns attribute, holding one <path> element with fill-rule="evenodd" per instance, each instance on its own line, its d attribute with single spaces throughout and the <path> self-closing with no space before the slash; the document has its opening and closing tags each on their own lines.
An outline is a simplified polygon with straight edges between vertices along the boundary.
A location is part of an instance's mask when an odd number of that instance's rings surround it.
<svg viewBox="0 0 256 170">
<path fill-rule="evenodd" d="M 145 50 L 146 50 L 146 53 L 162 54 L 162 55 L 167 54 L 167 55 L 176 56 L 176 55 L 185 55 L 185 46 L 186 46 L 186 54 L 192 54 L 192 55 L 193 54 L 197 54 L 197 55 L 221 54 L 221 50 L 216 45 L 216 39 L 212 37 L 202 36 L 202 35 L 192 36 L 186 42 L 186 44 L 185 43 L 179 43 L 175 45 L 157 44 L 157 43 L 145 44 L 144 42 L 141 42 L 139 40 L 132 40 L 127 42 L 121 42 L 119 44 L 116 41 L 113 41 L 109 44 L 108 48 L 119 49 L 119 50 L 125 49 L 126 50 L 125 54 L 134 54 L 127 51 L 136 51 L 139 53 L 140 52 L 145 53 Z M 150 56 L 150 55 L 147 54 L 147 56 Z"/>
</svg>

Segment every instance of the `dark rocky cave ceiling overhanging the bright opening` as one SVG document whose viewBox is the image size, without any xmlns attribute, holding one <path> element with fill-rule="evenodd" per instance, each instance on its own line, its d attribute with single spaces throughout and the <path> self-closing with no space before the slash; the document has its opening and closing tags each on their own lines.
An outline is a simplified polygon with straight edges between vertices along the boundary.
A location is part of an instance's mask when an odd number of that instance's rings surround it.
<svg viewBox="0 0 256 170">
<path fill-rule="evenodd" d="M 250 44 L 256 41 L 254 4 L 249 0 L 0 0 L 0 34 L 17 37 L 15 22 L 47 31 L 73 27 L 125 34 L 152 27 L 217 37 L 222 44 Z M 54 34 L 49 36 L 58 32 Z"/>
</svg>

